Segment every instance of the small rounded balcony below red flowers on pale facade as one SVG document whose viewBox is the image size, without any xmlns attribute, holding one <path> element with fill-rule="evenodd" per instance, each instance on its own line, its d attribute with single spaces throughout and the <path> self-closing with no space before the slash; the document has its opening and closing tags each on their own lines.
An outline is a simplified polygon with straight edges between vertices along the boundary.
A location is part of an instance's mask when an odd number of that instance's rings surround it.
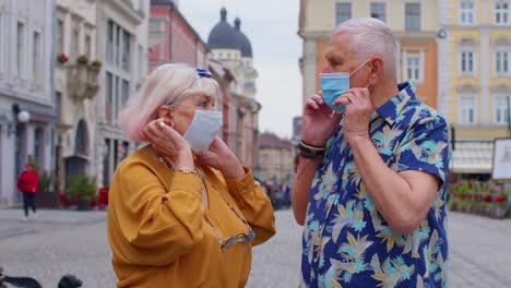
<svg viewBox="0 0 511 288">
<path fill-rule="evenodd" d="M 75 64 L 68 67 L 68 93 L 76 101 L 93 99 L 99 89 L 97 75 L 100 67 Z"/>
</svg>

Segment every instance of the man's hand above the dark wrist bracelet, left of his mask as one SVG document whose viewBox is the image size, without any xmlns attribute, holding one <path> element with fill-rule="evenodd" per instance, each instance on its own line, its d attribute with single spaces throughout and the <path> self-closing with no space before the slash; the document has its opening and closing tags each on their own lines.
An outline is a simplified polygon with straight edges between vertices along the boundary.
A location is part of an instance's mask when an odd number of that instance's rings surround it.
<svg viewBox="0 0 511 288">
<path fill-rule="evenodd" d="M 337 128 L 341 115 L 335 113 L 321 97 L 321 92 L 307 100 L 301 119 L 301 140 L 314 146 L 324 146 Z"/>
</svg>

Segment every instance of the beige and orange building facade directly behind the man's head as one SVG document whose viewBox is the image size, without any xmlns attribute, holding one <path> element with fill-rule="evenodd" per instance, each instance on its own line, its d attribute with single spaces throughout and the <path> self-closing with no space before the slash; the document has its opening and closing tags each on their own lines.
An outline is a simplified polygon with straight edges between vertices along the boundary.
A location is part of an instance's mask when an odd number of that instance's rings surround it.
<svg viewBox="0 0 511 288">
<path fill-rule="evenodd" d="M 413 81 L 417 95 L 437 107 L 437 1 L 301 0 L 298 35 L 304 39 L 302 103 L 320 89 L 318 74 L 324 65 L 324 48 L 332 29 L 350 17 L 372 16 L 383 21 L 397 37 L 399 81 Z"/>
</svg>

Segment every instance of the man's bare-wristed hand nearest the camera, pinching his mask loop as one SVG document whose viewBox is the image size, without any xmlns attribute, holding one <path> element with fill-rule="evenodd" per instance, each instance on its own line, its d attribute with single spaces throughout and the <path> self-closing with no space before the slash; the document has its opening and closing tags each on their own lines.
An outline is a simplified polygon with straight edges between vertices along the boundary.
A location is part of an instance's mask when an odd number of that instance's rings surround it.
<svg viewBox="0 0 511 288">
<path fill-rule="evenodd" d="M 344 106 L 344 136 L 349 144 L 369 139 L 369 120 L 375 107 L 368 88 L 350 88 L 338 97 L 334 105 Z"/>
</svg>

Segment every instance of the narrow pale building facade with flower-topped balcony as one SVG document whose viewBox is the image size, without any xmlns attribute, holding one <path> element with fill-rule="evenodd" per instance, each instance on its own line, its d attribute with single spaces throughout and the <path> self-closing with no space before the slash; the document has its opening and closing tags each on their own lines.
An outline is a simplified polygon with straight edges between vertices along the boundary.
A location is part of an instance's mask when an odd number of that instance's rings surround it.
<svg viewBox="0 0 511 288">
<path fill-rule="evenodd" d="M 96 58 L 96 1 L 57 0 L 54 85 L 56 163 L 51 176 L 66 187 L 74 175 L 96 172 L 96 99 L 103 62 Z"/>
</svg>

